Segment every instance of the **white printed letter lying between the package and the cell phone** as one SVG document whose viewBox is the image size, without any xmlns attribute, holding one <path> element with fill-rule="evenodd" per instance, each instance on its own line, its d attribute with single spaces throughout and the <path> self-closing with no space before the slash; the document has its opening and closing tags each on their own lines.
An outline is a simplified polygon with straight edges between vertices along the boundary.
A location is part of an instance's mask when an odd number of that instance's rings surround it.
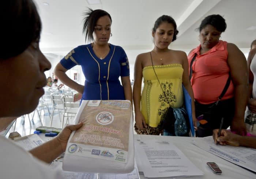
<svg viewBox="0 0 256 179">
<path fill-rule="evenodd" d="M 135 140 L 135 148 L 139 171 L 143 171 L 146 177 L 203 175 L 203 172 L 170 141 L 141 137 L 140 141 Z"/>
</svg>

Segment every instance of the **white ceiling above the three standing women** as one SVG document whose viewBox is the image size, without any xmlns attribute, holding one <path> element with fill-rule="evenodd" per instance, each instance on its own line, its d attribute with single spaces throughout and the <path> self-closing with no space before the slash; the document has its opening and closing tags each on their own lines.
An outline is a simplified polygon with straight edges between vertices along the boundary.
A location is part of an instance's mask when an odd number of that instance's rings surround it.
<svg viewBox="0 0 256 179">
<path fill-rule="evenodd" d="M 195 29 L 211 14 L 220 14 L 226 19 L 223 40 L 248 51 L 256 39 L 256 0 L 99 1 L 101 4 L 89 5 L 87 0 L 35 0 L 42 20 L 42 52 L 51 57 L 64 56 L 85 43 L 82 22 L 86 7 L 109 12 L 113 34 L 109 42 L 122 46 L 125 51 L 152 49 L 151 29 L 163 14 L 172 16 L 178 26 L 178 38 L 171 44 L 173 49 L 191 50 L 198 46 L 199 32 Z M 249 27 L 255 29 L 246 30 Z"/>
</svg>

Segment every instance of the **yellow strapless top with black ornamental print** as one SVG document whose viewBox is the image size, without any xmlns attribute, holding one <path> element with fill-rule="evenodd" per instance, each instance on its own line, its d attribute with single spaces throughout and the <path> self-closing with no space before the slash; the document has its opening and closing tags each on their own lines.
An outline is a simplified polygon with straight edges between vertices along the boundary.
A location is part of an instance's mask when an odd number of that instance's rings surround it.
<svg viewBox="0 0 256 179">
<path fill-rule="evenodd" d="M 154 65 L 154 68 L 170 105 L 174 108 L 182 107 L 182 65 Z M 155 76 L 153 66 L 144 67 L 142 73 L 144 87 L 141 96 L 141 112 L 149 126 L 157 127 L 169 104 Z"/>
</svg>

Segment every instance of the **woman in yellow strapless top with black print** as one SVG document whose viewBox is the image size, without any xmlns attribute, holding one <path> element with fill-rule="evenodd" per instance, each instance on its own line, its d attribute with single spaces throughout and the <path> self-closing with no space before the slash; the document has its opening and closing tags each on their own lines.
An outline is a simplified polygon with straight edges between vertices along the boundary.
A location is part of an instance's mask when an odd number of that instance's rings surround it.
<svg viewBox="0 0 256 179">
<path fill-rule="evenodd" d="M 169 108 L 166 97 L 172 107 L 182 107 L 182 84 L 192 98 L 192 117 L 194 126 L 196 125 L 187 55 L 182 51 L 168 49 L 177 34 L 177 26 L 172 17 L 166 15 L 159 17 L 152 31 L 154 49 L 151 52 L 139 54 L 136 58 L 133 102 L 136 122 L 134 127 L 138 134 L 163 134 L 160 123 L 163 114 Z M 144 87 L 141 93 L 142 78 Z"/>
</svg>

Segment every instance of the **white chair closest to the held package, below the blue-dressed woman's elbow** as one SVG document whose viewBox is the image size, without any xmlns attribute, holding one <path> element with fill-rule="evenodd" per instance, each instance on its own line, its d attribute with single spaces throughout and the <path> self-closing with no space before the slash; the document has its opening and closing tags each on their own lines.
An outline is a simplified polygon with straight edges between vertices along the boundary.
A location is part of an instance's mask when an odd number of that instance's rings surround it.
<svg viewBox="0 0 256 179">
<path fill-rule="evenodd" d="M 62 116 L 62 128 L 64 125 L 64 118 L 67 117 L 66 123 L 69 122 L 69 118 L 74 118 L 79 109 L 79 101 L 74 102 L 74 95 L 63 95 L 61 97 L 64 113 Z M 69 116 L 70 114 L 70 116 Z"/>
</svg>

